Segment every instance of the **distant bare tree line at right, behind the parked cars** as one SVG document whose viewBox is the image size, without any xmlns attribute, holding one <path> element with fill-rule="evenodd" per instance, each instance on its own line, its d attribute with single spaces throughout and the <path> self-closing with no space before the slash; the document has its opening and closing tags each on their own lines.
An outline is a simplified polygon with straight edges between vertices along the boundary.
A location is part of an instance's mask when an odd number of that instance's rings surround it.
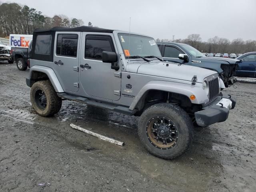
<svg viewBox="0 0 256 192">
<path fill-rule="evenodd" d="M 256 40 L 246 40 L 242 38 L 236 38 L 232 41 L 227 38 L 220 38 L 214 36 L 213 38 L 208 39 L 207 42 L 203 42 L 200 34 L 190 34 L 186 39 L 156 39 L 156 42 L 177 42 L 185 43 L 196 48 L 201 52 L 206 53 L 247 53 L 256 51 Z"/>
</svg>

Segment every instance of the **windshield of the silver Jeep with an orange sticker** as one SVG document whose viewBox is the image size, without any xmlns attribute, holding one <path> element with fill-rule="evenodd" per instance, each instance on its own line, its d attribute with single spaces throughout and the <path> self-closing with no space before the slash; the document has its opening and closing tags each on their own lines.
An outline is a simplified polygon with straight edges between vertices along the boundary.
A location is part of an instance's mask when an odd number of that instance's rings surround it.
<svg viewBox="0 0 256 192">
<path fill-rule="evenodd" d="M 158 46 L 153 38 L 124 33 L 119 33 L 118 38 L 126 57 L 157 56 L 162 58 Z"/>
</svg>

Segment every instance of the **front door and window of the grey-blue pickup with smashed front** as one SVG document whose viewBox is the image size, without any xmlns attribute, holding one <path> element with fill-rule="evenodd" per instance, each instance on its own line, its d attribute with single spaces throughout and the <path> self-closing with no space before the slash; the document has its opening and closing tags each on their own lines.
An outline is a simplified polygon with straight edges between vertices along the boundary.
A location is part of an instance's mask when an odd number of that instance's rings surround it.
<svg viewBox="0 0 256 192">
<path fill-rule="evenodd" d="M 162 56 L 165 61 L 176 63 L 184 63 L 184 60 L 179 59 L 179 54 L 185 54 L 180 48 L 172 45 L 165 45 L 162 49 Z"/>
</svg>

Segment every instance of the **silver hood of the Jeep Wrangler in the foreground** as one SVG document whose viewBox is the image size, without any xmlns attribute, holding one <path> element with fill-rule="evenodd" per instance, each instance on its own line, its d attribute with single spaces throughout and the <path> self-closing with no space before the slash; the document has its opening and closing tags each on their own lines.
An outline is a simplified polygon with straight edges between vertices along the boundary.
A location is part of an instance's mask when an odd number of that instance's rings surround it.
<svg viewBox="0 0 256 192">
<path fill-rule="evenodd" d="M 204 78 L 216 74 L 212 70 L 172 62 L 147 62 L 138 66 L 137 73 L 186 81 L 192 81 L 196 75 L 197 82 L 200 83 L 203 82 Z"/>
</svg>

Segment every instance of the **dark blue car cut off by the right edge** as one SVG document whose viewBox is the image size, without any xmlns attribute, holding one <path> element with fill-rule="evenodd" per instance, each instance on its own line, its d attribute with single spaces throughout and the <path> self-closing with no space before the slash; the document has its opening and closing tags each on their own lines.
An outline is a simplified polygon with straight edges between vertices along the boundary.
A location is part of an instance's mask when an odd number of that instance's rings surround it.
<svg viewBox="0 0 256 192">
<path fill-rule="evenodd" d="M 236 74 L 243 77 L 255 77 L 256 75 L 256 54 L 251 54 L 241 58 Z"/>
</svg>

